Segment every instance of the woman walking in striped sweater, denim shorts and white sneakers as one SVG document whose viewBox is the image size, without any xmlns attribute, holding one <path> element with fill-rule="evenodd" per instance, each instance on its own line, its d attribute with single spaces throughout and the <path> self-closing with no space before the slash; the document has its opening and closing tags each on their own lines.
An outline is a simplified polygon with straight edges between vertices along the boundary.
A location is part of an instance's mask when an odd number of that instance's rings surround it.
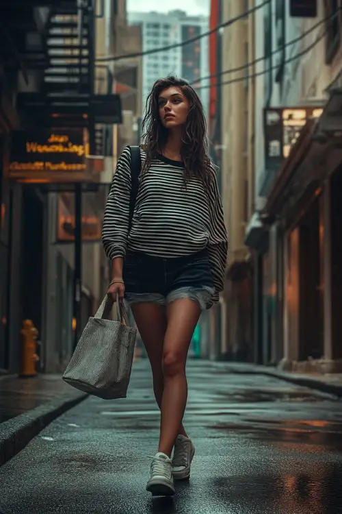
<svg viewBox="0 0 342 514">
<path fill-rule="evenodd" d="M 122 151 L 107 200 L 103 246 L 111 260 L 108 295 L 131 306 L 161 411 L 159 448 L 146 489 L 174 494 L 189 478 L 195 448 L 182 424 L 185 363 L 202 310 L 223 289 L 227 235 L 205 114 L 187 82 L 155 82 L 146 103 L 142 170 L 129 230 L 131 152 Z M 172 450 L 174 454 L 172 457 Z"/>
</svg>

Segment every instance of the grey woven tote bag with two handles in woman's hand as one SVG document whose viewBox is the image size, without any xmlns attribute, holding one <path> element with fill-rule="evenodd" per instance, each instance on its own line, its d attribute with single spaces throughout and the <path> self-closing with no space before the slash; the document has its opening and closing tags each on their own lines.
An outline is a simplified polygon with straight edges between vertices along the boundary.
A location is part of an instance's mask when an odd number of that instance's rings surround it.
<svg viewBox="0 0 342 514">
<path fill-rule="evenodd" d="M 105 400 L 127 397 L 137 330 L 129 326 L 116 297 L 118 321 L 108 319 L 113 299 L 105 297 L 84 328 L 63 380 Z"/>
</svg>

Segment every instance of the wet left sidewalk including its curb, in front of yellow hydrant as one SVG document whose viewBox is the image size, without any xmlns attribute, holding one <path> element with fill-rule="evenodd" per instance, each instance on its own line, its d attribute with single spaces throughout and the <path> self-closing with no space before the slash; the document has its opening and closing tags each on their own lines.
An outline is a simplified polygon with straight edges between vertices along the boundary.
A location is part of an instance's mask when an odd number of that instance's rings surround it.
<svg viewBox="0 0 342 514">
<path fill-rule="evenodd" d="M 86 398 L 60 375 L 0 377 L 0 465 L 20 452 L 42 428 Z"/>
</svg>

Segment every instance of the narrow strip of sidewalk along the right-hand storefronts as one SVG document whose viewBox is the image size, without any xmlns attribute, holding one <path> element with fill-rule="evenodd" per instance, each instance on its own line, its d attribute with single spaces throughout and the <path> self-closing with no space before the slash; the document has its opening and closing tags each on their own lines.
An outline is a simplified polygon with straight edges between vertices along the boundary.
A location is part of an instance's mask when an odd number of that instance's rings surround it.
<svg viewBox="0 0 342 514">
<path fill-rule="evenodd" d="M 233 374 L 257 374 L 268 375 L 280 380 L 286 380 L 302 387 L 309 387 L 342 398 L 342 374 L 299 374 L 280 371 L 276 367 L 246 364 L 218 362 L 218 367 L 223 367 L 228 373 Z"/>
</svg>

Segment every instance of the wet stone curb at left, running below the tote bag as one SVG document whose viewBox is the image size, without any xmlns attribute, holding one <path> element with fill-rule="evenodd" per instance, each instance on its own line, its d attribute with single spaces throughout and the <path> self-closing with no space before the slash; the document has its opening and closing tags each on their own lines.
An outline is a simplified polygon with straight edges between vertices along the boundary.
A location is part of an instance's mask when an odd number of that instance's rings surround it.
<svg viewBox="0 0 342 514">
<path fill-rule="evenodd" d="M 88 397 L 86 393 L 73 393 L 58 400 L 44 403 L 25 414 L 20 414 L 0 424 L 0 466 L 48 426 L 51 421 L 73 408 Z"/>
</svg>

